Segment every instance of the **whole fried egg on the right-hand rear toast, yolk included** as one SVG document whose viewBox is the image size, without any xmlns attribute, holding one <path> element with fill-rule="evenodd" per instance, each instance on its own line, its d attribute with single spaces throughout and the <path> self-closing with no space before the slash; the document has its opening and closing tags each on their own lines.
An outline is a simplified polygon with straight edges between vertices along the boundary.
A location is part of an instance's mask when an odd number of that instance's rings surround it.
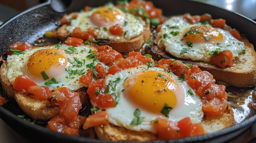
<svg viewBox="0 0 256 143">
<path fill-rule="evenodd" d="M 236 57 L 245 49 L 244 43 L 229 31 L 210 24 L 190 24 L 182 16 L 168 19 L 158 32 L 155 42 L 175 57 L 204 62 L 210 61 L 211 51 L 230 50 Z"/>
</svg>

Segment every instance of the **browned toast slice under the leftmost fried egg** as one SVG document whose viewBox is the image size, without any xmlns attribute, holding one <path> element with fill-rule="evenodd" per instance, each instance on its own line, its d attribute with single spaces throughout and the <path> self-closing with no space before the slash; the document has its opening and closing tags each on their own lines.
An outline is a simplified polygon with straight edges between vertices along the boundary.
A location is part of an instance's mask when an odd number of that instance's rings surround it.
<svg viewBox="0 0 256 143">
<path fill-rule="evenodd" d="M 33 46 L 33 48 L 36 48 L 36 47 L 38 46 Z M 98 48 L 96 44 L 92 44 L 91 47 L 94 47 L 94 49 Z M 11 82 L 8 80 L 6 76 L 7 63 L 8 61 L 6 60 L 0 68 L 0 77 L 1 77 L 0 81 L 1 81 L 4 93 L 9 98 L 15 98 L 19 107 L 33 119 L 48 120 L 58 115 L 58 111 L 59 111 L 58 106 L 51 105 L 48 100 L 36 99 L 32 94 L 19 93 L 13 88 Z M 87 104 L 88 102 L 90 102 L 90 99 L 86 94 L 86 90 L 87 88 L 85 87 L 75 90 L 75 92 L 79 94 L 80 101 L 82 104 Z"/>
</svg>

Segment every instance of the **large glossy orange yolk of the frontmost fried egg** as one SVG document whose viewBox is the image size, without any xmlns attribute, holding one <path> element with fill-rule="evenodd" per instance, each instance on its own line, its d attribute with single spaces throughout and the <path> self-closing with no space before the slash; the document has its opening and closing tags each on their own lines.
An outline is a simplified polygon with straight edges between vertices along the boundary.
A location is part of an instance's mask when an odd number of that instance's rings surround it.
<svg viewBox="0 0 256 143">
<path fill-rule="evenodd" d="M 159 71 L 135 73 L 124 82 L 124 87 L 124 97 L 152 113 L 159 114 L 165 103 L 174 108 L 179 100 L 184 101 L 182 87 L 173 77 Z"/>
</svg>

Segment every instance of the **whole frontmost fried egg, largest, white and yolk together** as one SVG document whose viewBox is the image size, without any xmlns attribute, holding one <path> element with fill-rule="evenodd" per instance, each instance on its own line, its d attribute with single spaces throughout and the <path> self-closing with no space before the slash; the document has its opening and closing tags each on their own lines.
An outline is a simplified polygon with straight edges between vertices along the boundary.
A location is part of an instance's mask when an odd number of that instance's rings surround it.
<svg viewBox="0 0 256 143">
<path fill-rule="evenodd" d="M 118 103 L 116 107 L 106 108 L 108 121 L 134 131 L 155 133 L 153 120 L 164 116 L 161 110 L 167 104 L 173 107 L 168 114 L 170 120 L 179 121 L 190 117 L 194 123 L 201 122 L 203 112 L 200 97 L 185 81 L 176 81 L 177 79 L 177 76 L 165 72 L 162 68 L 147 68 L 144 65 L 108 75 L 104 82 L 106 85 L 112 83 L 109 93 Z M 97 106 L 95 103 L 93 105 Z M 139 109 L 140 116 L 144 117 L 143 122 L 130 125 L 136 109 Z"/>
</svg>

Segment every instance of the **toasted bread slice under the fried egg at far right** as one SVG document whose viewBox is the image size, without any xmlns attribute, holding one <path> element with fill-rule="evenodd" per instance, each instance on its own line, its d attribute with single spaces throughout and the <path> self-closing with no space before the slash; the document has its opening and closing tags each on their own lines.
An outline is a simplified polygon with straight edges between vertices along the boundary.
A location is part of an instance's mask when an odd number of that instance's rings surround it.
<svg viewBox="0 0 256 143">
<path fill-rule="evenodd" d="M 167 53 L 164 49 L 157 45 L 151 46 L 149 53 L 154 60 L 174 58 L 184 63 L 196 64 L 201 70 L 206 70 L 213 75 L 216 80 L 224 81 L 235 87 L 250 87 L 256 84 L 256 52 L 248 39 L 241 36 L 241 41 L 245 44 L 245 54 L 234 58 L 231 66 L 220 68 L 202 61 L 192 61 L 187 59 L 179 59 Z"/>
</svg>

